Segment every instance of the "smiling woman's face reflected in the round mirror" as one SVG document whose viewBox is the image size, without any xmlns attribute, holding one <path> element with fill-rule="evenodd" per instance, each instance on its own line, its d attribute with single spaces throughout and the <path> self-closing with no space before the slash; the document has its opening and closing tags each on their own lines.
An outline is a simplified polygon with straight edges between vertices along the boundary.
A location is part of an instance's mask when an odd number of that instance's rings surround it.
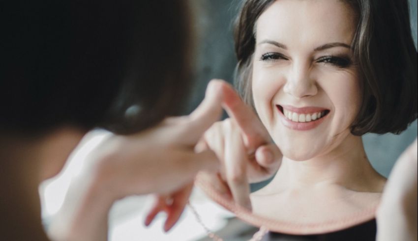
<svg viewBox="0 0 418 241">
<path fill-rule="evenodd" d="M 287 158 L 322 156 L 351 135 L 360 105 L 355 27 L 341 0 L 276 0 L 258 19 L 254 104 Z"/>
</svg>

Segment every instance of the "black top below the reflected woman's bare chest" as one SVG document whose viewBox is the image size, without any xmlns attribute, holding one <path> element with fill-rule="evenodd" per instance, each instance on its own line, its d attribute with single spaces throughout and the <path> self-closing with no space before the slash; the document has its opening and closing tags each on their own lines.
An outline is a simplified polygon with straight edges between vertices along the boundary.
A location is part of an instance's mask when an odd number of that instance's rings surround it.
<svg viewBox="0 0 418 241">
<path fill-rule="evenodd" d="M 269 241 L 376 241 L 376 219 L 344 230 L 318 235 L 270 233 Z"/>
</svg>

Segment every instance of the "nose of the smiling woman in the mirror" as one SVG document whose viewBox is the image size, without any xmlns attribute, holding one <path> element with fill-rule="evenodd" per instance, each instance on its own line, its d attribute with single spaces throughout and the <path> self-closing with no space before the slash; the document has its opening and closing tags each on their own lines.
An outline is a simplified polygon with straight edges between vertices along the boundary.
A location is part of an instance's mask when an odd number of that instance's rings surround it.
<svg viewBox="0 0 418 241">
<path fill-rule="evenodd" d="M 309 63 L 294 63 L 287 75 L 284 92 L 298 99 L 316 95 L 318 93 L 316 80 L 310 72 Z"/>
</svg>

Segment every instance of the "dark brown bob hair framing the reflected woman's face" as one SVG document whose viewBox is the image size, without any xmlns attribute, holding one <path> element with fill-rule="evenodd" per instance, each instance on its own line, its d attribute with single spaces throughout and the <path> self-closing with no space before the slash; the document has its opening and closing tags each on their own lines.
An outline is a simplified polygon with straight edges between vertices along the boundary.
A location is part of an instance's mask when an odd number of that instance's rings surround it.
<svg viewBox="0 0 418 241">
<path fill-rule="evenodd" d="M 244 0 L 235 24 L 236 85 L 254 106 L 251 90 L 254 27 L 275 0 Z M 357 14 L 352 51 L 361 75 L 362 104 L 355 135 L 404 131 L 417 119 L 417 50 L 407 0 L 343 0 Z"/>
</svg>

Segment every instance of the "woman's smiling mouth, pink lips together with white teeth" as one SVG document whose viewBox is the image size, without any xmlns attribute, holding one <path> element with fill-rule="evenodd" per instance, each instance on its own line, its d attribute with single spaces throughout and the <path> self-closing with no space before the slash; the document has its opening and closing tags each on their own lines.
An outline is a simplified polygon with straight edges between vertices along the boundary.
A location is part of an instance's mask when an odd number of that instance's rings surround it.
<svg viewBox="0 0 418 241">
<path fill-rule="evenodd" d="M 330 110 L 321 107 L 292 107 L 276 106 L 280 116 L 283 117 L 283 124 L 290 129 L 307 131 L 317 127 L 329 114 Z"/>
</svg>

